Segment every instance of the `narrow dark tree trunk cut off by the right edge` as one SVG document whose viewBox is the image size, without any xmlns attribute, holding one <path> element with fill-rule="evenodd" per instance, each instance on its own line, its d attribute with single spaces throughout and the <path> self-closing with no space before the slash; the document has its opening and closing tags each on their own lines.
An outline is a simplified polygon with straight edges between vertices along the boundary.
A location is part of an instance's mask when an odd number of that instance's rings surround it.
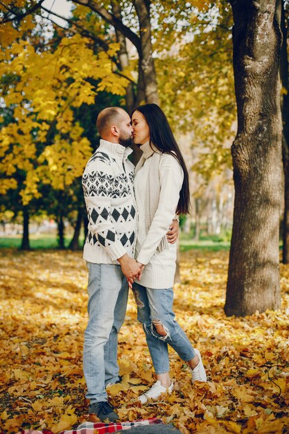
<svg viewBox="0 0 289 434">
<path fill-rule="evenodd" d="M 288 68 L 288 21 L 282 0 L 281 31 L 283 41 L 281 46 L 280 73 L 283 87 L 282 119 L 283 119 L 283 171 L 284 171 L 284 216 L 283 216 L 283 263 L 289 263 L 289 68 Z"/>
</svg>

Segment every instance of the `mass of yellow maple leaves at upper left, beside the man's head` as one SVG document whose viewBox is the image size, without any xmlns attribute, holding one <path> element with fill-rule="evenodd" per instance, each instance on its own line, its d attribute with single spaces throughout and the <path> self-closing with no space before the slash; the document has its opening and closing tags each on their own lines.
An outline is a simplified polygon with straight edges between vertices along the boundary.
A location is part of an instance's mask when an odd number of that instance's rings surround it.
<svg viewBox="0 0 289 434">
<path fill-rule="evenodd" d="M 35 22 L 27 19 L 33 31 Z M 110 60 L 119 44 L 97 54 L 90 40 L 76 34 L 62 37 L 54 49 L 46 42 L 49 49 L 40 51 L 37 38 L 25 40 L 15 29 L 11 32 L 0 33 L 0 96 L 11 112 L 0 133 L 0 193 L 17 187 L 20 169 L 26 174 L 19 184 L 25 205 L 41 196 L 40 183 L 63 190 L 82 175 L 92 150 L 74 112 L 94 104 L 100 91 L 125 94 L 128 80 L 114 73 Z"/>
</svg>

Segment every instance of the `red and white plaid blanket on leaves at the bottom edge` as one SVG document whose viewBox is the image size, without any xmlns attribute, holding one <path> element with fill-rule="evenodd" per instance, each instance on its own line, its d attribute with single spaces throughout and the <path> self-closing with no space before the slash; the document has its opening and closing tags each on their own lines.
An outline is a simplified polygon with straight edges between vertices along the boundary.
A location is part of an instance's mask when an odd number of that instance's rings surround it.
<svg viewBox="0 0 289 434">
<path fill-rule="evenodd" d="M 133 426 L 143 426 L 152 424 L 163 424 L 161 419 L 156 417 L 151 417 L 150 419 L 139 419 L 133 422 L 112 422 L 111 424 L 104 424 L 103 422 L 85 422 L 79 425 L 76 429 L 71 429 L 69 431 L 62 431 L 59 434 L 109 434 L 116 433 L 116 431 L 126 431 Z M 31 431 L 31 430 L 21 430 L 17 434 L 53 434 L 49 430 L 43 431 Z"/>
</svg>

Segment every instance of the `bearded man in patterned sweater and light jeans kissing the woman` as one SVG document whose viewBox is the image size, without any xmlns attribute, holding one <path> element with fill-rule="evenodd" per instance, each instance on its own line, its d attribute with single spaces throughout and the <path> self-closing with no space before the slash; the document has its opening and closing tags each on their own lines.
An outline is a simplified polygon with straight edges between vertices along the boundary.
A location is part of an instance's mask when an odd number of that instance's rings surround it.
<svg viewBox="0 0 289 434">
<path fill-rule="evenodd" d="M 87 163 L 82 186 L 89 218 L 83 257 L 89 269 L 88 313 L 83 370 L 87 382 L 89 420 L 119 419 L 107 400 L 105 386 L 120 381 L 117 333 L 128 303 L 127 279 L 141 269 L 133 259 L 137 229 L 130 116 L 108 107 L 96 126 L 100 146 Z M 171 235 L 171 238 L 175 238 Z"/>
</svg>

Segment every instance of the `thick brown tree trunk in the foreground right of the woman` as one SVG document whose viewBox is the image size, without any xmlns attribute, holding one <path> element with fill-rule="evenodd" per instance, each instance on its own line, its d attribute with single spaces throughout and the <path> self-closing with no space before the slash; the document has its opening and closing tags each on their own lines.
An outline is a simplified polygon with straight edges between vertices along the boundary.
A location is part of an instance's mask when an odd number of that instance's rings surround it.
<svg viewBox="0 0 289 434">
<path fill-rule="evenodd" d="M 280 5 L 276 0 L 231 0 L 238 132 L 231 148 L 235 202 L 227 315 L 280 306 Z"/>
</svg>

